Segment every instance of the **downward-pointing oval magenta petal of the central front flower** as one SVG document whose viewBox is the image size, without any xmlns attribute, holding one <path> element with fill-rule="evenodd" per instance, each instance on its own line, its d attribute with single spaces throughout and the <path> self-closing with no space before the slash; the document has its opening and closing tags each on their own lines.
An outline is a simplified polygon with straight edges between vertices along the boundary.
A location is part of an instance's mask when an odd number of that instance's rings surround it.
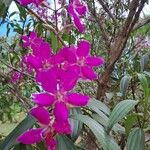
<svg viewBox="0 0 150 150">
<path fill-rule="evenodd" d="M 69 111 L 65 103 L 57 102 L 54 108 L 54 116 L 58 122 L 66 121 L 69 117 Z"/>
</svg>

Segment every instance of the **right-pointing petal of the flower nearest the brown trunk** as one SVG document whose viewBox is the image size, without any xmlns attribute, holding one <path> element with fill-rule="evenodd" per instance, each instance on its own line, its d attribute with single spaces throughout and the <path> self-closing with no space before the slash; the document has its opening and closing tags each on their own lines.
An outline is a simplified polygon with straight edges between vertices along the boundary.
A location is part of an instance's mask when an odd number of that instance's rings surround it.
<svg viewBox="0 0 150 150">
<path fill-rule="evenodd" d="M 104 58 L 91 56 L 91 57 L 86 58 L 86 63 L 87 65 L 90 65 L 90 66 L 99 66 L 99 65 L 104 64 Z"/>
</svg>

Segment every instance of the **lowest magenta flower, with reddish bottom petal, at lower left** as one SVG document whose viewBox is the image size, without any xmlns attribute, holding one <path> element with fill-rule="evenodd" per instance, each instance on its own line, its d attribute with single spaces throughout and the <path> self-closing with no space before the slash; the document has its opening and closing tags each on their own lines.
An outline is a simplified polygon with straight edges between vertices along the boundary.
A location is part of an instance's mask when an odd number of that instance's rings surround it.
<svg viewBox="0 0 150 150">
<path fill-rule="evenodd" d="M 40 123 L 40 128 L 30 129 L 18 137 L 18 141 L 23 144 L 34 144 L 44 141 L 48 150 L 55 150 L 56 132 L 52 127 L 49 112 L 43 107 L 35 107 L 30 112 Z"/>
</svg>

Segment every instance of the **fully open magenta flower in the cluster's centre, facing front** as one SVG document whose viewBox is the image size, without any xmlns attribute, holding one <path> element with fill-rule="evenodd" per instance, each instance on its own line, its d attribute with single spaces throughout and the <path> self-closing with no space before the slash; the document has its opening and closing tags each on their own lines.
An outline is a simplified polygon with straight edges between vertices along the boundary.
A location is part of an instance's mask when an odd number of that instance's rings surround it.
<svg viewBox="0 0 150 150">
<path fill-rule="evenodd" d="M 47 93 L 33 94 L 33 102 L 39 106 L 53 106 L 54 128 L 57 132 L 61 132 L 61 128 L 65 132 L 70 130 L 67 123 L 69 107 L 85 106 L 88 103 L 88 96 L 69 92 L 76 85 L 77 79 L 75 72 L 63 71 L 60 68 L 38 73 L 37 80 Z"/>
</svg>

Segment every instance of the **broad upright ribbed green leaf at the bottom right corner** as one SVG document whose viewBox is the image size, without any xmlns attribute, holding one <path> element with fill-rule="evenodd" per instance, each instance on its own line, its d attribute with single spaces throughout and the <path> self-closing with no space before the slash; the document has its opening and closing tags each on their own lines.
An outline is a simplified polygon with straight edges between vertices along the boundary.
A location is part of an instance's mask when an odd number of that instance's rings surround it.
<svg viewBox="0 0 150 150">
<path fill-rule="evenodd" d="M 127 140 L 127 150 L 144 150 L 145 136 L 143 129 L 133 129 Z"/>
</svg>

